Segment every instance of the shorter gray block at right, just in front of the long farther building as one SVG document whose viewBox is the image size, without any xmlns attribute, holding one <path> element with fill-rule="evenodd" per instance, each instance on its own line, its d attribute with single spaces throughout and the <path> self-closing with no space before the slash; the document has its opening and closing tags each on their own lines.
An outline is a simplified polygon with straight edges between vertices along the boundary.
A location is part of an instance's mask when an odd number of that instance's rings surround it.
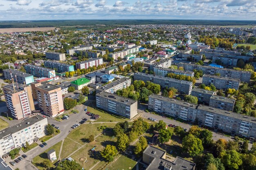
<svg viewBox="0 0 256 170">
<path fill-rule="evenodd" d="M 213 84 L 216 89 L 228 89 L 234 88 L 238 90 L 240 79 L 228 78 L 228 77 L 219 77 L 217 75 L 203 75 L 202 84 L 209 86 Z"/>
</svg>

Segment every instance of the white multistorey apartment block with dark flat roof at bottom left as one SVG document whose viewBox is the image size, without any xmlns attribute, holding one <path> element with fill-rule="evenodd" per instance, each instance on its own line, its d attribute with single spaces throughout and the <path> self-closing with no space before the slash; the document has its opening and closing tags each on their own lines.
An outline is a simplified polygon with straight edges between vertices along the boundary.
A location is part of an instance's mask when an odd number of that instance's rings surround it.
<svg viewBox="0 0 256 170">
<path fill-rule="evenodd" d="M 45 136 L 47 124 L 47 118 L 36 115 L 1 130 L 0 155 L 7 155 L 14 148 L 24 147 L 26 142 L 32 144 L 34 141 Z"/>
</svg>

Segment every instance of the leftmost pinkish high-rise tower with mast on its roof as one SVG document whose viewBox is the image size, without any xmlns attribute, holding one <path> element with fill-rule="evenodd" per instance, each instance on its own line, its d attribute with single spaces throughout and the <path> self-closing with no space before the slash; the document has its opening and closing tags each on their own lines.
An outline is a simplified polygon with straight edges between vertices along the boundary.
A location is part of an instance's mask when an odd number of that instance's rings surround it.
<svg viewBox="0 0 256 170">
<path fill-rule="evenodd" d="M 23 119 L 35 110 L 31 86 L 25 84 L 8 84 L 2 87 L 7 109 L 14 119 Z"/>
</svg>

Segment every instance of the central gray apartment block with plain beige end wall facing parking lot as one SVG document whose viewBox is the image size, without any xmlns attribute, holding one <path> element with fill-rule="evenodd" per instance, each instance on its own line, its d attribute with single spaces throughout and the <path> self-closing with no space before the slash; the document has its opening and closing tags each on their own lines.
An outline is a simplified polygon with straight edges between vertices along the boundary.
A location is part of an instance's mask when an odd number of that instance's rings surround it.
<svg viewBox="0 0 256 170">
<path fill-rule="evenodd" d="M 107 93 L 105 91 L 96 95 L 96 106 L 108 112 L 132 119 L 137 113 L 138 102 L 126 97 Z"/>
</svg>

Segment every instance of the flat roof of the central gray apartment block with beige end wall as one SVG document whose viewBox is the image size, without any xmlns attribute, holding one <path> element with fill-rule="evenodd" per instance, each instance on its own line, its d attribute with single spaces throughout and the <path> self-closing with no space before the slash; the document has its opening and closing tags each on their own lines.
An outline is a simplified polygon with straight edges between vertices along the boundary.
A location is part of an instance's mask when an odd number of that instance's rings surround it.
<svg viewBox="0 0 256 170">
<path fill-rule="evenodd" d="M 129 99 L 129 98 L 126 98 L 126 97 L 122 97 L 122 96 L 119 96 L 119 95 L 115 95 L 115 94 L 112 94 L 112 93 L 107 93 L 105 91 L 102 91 L 101 93 L 98 93 L 97 95 L 101 96 L 101 97 L 105 97 L 107 99 L 115 100 L 119 103 L 123 103 L 123 104 L 126 104 L 126 105 L 132 105 L 132 104 L 135 104 L 137 102 L 136 100 Z"/>
</svg>

